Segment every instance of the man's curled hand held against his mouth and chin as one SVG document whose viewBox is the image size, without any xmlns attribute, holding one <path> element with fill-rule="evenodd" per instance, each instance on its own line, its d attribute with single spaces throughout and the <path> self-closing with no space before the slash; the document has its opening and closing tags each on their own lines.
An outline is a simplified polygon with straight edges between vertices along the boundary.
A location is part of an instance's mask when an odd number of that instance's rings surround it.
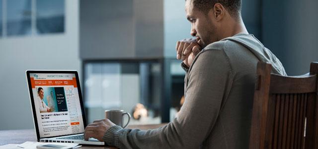
<svg viewBox="0 0 318 149">
<path fill-rule="evenodd" d="M 201 51 L 197 40 L 191 38 L 178 41 L 175 49 L 177 51 L 177 59 L 181 59 L 187 67 L 190 67 L 195 56 Z"/>
</svg>

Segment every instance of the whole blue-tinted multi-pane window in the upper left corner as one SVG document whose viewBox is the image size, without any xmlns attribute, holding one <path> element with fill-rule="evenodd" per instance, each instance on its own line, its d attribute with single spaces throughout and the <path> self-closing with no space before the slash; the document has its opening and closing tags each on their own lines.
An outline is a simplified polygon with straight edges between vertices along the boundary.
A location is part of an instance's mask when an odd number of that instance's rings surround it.
<svg viewBox="0 0 318 149">
<path fill-rule="evenodd" d="M 0 0 L 0 36 L 64 31 L 65 0 Z"/>
</svg>

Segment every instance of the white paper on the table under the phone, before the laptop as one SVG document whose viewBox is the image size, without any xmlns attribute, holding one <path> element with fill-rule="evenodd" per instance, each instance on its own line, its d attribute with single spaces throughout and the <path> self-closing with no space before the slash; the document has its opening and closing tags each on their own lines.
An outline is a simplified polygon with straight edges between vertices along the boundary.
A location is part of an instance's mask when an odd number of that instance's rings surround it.
<svg viewBox="0 0 318 149">
<path fill-rule="evenodd" d="M 41 142 L 25 142 L 23 144 L 18 145 L 18 149 L 36 149 L 36 146 L 38 145 L 46 145 L 46 144 L 53 144 L 53 145 L 59 145 L 59 146 L 67 146 L 68 148 L 78 148 L 77 146 L 79 144 L 74 143 L 41 143 Z"/>
</svg>

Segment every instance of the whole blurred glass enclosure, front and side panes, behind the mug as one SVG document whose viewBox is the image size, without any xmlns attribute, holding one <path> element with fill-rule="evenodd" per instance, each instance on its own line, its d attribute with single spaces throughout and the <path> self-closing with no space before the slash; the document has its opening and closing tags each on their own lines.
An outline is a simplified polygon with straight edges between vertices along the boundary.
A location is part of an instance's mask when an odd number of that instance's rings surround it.
<svg viewBox="0 0 318 149">
<path fill-rule="evenodd" d="M 104 110 L 129 112 L 131 124 L 172 121 L 184 102 L 185 72 L 179 60 L 84 62 L 87 122 L 104 118 Z"/>
</svg>

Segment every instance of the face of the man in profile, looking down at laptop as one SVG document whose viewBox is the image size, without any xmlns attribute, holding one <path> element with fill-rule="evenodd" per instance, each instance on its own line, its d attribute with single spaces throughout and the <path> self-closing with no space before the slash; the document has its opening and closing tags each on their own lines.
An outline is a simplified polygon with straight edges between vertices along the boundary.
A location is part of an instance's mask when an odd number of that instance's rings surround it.
<svg viewBox="0 0 318 149">
<path fill-rule="evenodd" d="M 208 14 L 194 7 L 192 0 L 186 0 L 185 11 L 191 23 L 191 36 L 196 37 L 201 48 L 217 41 L 216 25 L 213 22 L 212 9 Z"/>
</svg>

